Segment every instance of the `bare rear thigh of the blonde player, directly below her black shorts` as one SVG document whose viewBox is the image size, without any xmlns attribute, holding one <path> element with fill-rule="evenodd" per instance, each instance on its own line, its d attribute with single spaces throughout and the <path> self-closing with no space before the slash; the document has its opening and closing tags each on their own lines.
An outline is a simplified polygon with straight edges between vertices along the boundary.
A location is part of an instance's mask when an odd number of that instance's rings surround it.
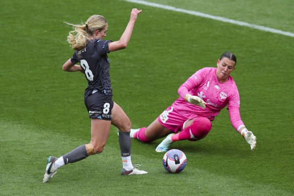
<svg viewBox="0 0 294 196">
<path fill-rule="evenodd" d="M 110 132 L 110 120 L 102 120 L 92 118 L 91 120 L 91 144 L 94 146 L 95 152 L 100 153 L 107 142 Z"/>
</svg>

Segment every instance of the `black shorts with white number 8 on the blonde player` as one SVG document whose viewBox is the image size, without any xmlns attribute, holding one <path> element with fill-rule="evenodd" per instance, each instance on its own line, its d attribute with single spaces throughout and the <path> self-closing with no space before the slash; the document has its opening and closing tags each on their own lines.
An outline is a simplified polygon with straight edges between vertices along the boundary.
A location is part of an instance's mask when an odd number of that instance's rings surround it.
<svg viewBox="0 0 294 196">
<path fill-rule="evenodd" d="M 85 105 L 90 118 L 111 120 L 111 110 L 113 108 L 112 95 L 105 95 L 97 91 L 85 97 Z"/>
</svg>

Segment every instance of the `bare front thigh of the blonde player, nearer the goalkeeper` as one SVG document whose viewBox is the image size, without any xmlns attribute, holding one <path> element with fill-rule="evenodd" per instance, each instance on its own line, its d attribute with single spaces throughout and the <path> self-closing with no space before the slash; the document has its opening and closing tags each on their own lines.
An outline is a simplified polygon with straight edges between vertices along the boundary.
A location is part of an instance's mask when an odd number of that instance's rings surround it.
<svg viewBox="0 0 294 196">
<path fill-rule="evenodd" d="M 114 102 L 112 108 L 111 124 L 116 126 L 120 132 L 129 132 L 131 128 L 131 121 L 124 113 L 123 109 Z"/>
</svg>

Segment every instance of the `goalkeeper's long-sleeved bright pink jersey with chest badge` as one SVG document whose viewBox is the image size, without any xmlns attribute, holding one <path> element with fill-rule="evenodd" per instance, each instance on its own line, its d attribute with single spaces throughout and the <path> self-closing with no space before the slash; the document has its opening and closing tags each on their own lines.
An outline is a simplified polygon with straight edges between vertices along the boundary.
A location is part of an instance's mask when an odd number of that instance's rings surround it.
<svg viewBox="0 0 294 196">
<path fill-rule="evenodd" d="M 244 124 L 240 117 L 240 97 L 237 86 L 231 76 L 225 83 L 216 78 L 216 68 L 203 68 L 193 74 L 182 86 L 178 93 L 180 97 L 172 104 L 183 116 L 193 119 L 196 116 L 207 117 L 213 120 L 220 109 L 228 105 L 230 119 L 234 128 L 238 129 Z M 200 97 L 206 103 L 202 109 L 184 100 L 186 94 Z"/>
</svg>

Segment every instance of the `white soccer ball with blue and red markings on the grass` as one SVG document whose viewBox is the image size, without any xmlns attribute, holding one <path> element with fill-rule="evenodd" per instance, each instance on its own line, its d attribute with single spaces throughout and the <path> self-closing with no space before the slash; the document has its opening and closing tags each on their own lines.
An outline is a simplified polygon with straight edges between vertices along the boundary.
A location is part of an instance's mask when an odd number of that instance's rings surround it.
<svg viewBox="0 0 294 196">
<path fill-rule="evenodd" d="M 163 156 L 163 166 L 171 173 L 179 173 L 186 167 L 186 155 L 177 149 L 166 152 Z"/>
</svg>

